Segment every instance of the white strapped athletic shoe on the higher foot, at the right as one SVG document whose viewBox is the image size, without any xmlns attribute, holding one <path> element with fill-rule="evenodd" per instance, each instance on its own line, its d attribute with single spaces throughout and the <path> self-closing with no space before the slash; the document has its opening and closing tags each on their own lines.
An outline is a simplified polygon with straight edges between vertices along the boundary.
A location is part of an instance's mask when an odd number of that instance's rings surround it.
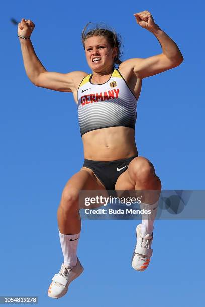
<svg viewBox="0 0 205 307">
<path fill-rule="evenodd" d="M 152 256 L 152 239 L 153 233 L 147 234 L 142 238 L 141 224 L 137 225 L 137 244 L 132 257 L 132 267 L 137 271 L 144 271 L 149 265 L 150 257 Z"/>
</svg>

